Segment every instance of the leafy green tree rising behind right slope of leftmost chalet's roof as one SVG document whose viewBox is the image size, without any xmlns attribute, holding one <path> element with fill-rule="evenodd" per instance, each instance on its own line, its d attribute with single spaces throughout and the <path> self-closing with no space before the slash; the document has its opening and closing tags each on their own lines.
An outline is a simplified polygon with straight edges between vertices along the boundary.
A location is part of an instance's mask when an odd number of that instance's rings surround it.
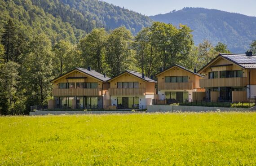
<svg viewBox="0 0 256 166">
<path fill-rule="evenodd" d="M 85 60 L 84 65 L 91 66 L 100 73 L 105 72 L 105 54 L 106 54 L 107 33 L 104 28 L 93 29 L 88 35 L 79 42 L 79 49 Z M 86 66 L 86 67 L 88 67 Z"/>
</svg>

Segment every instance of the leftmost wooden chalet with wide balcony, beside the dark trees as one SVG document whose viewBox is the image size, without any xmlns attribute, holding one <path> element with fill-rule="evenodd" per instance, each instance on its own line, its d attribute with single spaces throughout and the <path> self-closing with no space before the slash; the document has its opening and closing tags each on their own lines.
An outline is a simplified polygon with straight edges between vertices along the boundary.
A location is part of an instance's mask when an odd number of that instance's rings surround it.
<svg viewBox="0 0 256 166">
<path fill-rule="evenodd" d="M 75 68 L 51 82 L 54 87 L 52 95 L 54 100 L 49 100 L 49 109 L 101 109 L 103 100 L 107 100 L 106 92 L 109 83 L 106 74 L 100 74 L 90 67 L 88 69 Z"/>
</svg>

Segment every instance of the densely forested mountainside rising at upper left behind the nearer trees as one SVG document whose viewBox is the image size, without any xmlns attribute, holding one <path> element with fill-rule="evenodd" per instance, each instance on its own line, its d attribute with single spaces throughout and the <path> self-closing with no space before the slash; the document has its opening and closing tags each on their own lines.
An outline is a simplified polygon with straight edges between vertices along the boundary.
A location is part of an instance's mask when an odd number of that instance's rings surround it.
<svg viewBox="0 0 256 166">
<path fill-rule="evenodd" d="M 0 35 L 13 18 L 27 37 L 44 32 L 53 43 L 59 39 L 76 43 L 96 27 L 125 26 L 136 34 L 152 23 L 147 16 L 98 0 L 0 0 L 0 12 Z"/>
</svg>

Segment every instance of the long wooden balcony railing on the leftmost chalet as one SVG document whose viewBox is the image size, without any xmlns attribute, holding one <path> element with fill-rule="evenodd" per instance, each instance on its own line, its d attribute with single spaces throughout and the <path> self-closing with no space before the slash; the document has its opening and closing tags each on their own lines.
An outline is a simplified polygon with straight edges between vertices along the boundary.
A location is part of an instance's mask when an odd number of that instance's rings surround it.
<svg viewBox="0 0 256 166">
<path fill-rule="evenodd" d="M 102 96 L 102 89 L 53 89 L 53 96 Z"/>
</svg>

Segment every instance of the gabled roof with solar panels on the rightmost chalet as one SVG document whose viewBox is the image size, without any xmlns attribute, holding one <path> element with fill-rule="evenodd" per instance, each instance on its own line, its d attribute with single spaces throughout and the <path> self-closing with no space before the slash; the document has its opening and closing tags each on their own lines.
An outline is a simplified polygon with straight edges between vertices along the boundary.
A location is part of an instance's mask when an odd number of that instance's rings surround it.
<svg viewBox="0 0 256 166">
<path fill-rule="evenodd" d="M 223 57 L 224 59 L 231 61 L 232 63 L 242 67 L 243 69 L 256 69 L 256 55 L 247 56 L 246 54 L 226 54 L 221 53 L 217 57 L 215 57 L 212 61 L 207 63 L 207 65 L 203 66 L 202 69 L 204 70 L 207 66 L 212 64 L 212 62 L 216 61 L 219 57 Z"/>
</svg>

